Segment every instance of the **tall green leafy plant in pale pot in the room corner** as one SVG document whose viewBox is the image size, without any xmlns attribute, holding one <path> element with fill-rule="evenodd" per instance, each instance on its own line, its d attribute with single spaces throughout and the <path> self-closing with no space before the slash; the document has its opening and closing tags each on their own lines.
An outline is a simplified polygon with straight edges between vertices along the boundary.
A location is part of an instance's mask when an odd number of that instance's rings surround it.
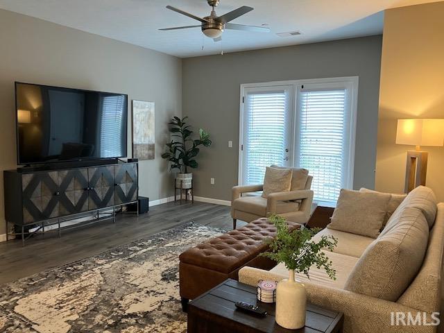
<svg viewBox="0 0 444 333">
<path fill-rule="evenodd" d="M 192 139 L 191 126 L 185 122 L 187 118 L 173 117 L 171 119 L 169 122 L 170 132 L 176 139 L 167 144 L 168 151 L 162 154 L 162 158 L 171 162 L 171 170 L 178 169 L 176 188 L 180 188 L 182 185 L 182 189 L 191 189 L 193 173 L 189 172 L 189 169 L 198 167 L 196 161 L 196 156 L 200 151 L 198 146 L 209 147 L 212 144 L 210 134 L 202 128 L 199 128 L 199 138 Z"/>
</svg>

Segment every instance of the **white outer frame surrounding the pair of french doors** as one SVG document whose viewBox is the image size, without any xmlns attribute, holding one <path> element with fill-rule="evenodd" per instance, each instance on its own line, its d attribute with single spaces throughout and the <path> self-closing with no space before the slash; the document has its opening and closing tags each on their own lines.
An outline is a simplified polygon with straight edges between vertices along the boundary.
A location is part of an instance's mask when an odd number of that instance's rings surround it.
<svg viewBox="0 0 444 333">
<path fill-rule="evenodd" d="M 240 99 L 239 99 L 239 157 L 238 157 L 238 177 L 237 181 L 240 185 L 243 179 L 244 172 L 244 160 L 242 147 L 244 145 L 244 100 L 246 98 L 246 89 L 250 88 L 267 88 L 276 86 L 291 86 L 293 101 L 291 103 L 291 128 L 293 133 L 291 133 L 291 146 L 292 146 L 292 165 L 298 167 L 298 154 L 296 154 L 296 141 L 298 140 L 299 128 L 298 119 L 300 119 L 300 114 L 298 114 L 298 99 L 300 97 L 300 88 L 303 85 L 329 85 L 339 88 L 350 89 L 350 115 L 349 115 L 349 133 L 348 133 L 348 161 L 347 161 L 347 175 L 345 176 L 345 184 L 343 188 L 352 189 L 353 180 L 355 176 L 355 143 L 356 143 L 356 127 L 357 127 L 357 105 L 358 105 L 358 89 L 359 89 L 359 76 L 343 76 L 337 78 L 311 78 L 311 79 L 301 79 L 301 80 L 282 80 L 282 81 L 271 81 L 263 83 L 244 83 L 240 85 Z M 317 201 L 318 205 L 323 205 L 327 207 L 334 207 L 336 203 Z"/>
</svg>

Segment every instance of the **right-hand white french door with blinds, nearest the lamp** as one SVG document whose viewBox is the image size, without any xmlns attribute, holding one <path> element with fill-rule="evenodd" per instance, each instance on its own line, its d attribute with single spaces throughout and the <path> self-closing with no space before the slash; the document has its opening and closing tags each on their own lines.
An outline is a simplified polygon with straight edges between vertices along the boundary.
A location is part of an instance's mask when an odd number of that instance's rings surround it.
<svg viewBox="0 0 444 333">
<path fill-rule="evenodd" d="M 351 84 L 298 85 L 296 94 L 295 165 L 313 176 L 315 200 L 335 203 L 341 188 L 351 189 L 353 181 Z"/>
</svg>

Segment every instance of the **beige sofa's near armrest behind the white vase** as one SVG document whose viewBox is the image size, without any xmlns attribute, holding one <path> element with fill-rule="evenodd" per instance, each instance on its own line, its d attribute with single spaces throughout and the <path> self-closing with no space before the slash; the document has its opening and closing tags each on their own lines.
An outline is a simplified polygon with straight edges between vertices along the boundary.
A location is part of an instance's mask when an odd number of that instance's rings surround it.
<svg viewBox="0 0 444 333">
<path fill-rule="evenodd" d="M 253 267 L 244 267 L 239 271 L 239 282 L 255 287 L 259 280 L 280 281 L 283 278 L 286 277 Z M 430 314 L 423 314 L 417 309 L 406 307 L 397 302 L 389 302 L 343 289 L 324 287 L 310 282 L 304 284 L 307 289 L 308 302 L 325 309 L 343 312 L 344 333 L 436 332 L 436 326 L 431 325 L 391 325 L 392 313 L 395 321 L 396 312 L 404 313 L 406 318 L 409 313 L 413 318 L 419 313 L 421 321 L 423 319 L 422 316 L 425 316 L 427 323 L 434 322 Z M 407 323 L 407 319 L 405 321 Z M 402 324 L 402 322 L 400 323 Z"/>
</svg>

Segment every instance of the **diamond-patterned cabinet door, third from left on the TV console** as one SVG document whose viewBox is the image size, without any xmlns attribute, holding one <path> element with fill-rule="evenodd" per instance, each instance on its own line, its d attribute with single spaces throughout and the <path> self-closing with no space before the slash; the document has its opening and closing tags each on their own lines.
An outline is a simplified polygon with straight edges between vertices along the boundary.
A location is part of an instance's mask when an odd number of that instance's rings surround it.
<svg viewBox="0 0 444 333">
<path fill-rule="evenodd" d="M 88 168 L 88 210 L 114 205 L 114 167 Z"/>
</svg>

